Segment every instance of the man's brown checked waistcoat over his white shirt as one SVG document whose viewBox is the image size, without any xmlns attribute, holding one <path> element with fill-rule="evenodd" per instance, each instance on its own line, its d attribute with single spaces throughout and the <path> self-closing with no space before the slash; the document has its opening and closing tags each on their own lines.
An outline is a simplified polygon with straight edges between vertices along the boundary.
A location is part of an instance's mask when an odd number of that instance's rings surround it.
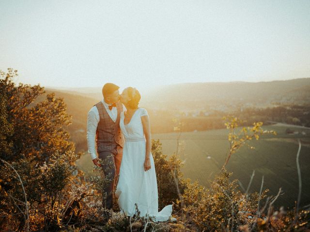
<svg viewBox="0 0 310 232">
<path fill-rule="evenodd" d="M 96 130 L 97 152 L 110 151 L 115 154 L 116 146 L 124 146 L 124 137 L 120 129 L 120 114 L 123 111 L 122 103 L 116 103 L 117 118 L 114 122 L 104 104 L 98 102 L 95 104 L 99 112 L 99 122 Z"/>
</svg>

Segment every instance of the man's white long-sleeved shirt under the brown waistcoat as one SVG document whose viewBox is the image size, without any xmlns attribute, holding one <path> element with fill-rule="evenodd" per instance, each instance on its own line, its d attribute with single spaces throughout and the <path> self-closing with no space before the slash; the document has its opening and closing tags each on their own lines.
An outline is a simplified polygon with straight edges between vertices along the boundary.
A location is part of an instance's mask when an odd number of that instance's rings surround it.
<svg viewBox="0 0 310 232">
<path fill-rule="evenodd" d="M 104 100 L 101 100 L 103 105 L 105 106 L 110 118 L 113 122 L 116 121 L 117 118 L 117 108 L 113 107 L 112 110 L 109 109 L 108 103 Z M 123 105 L 123 111 L 126 111 L 126 107 Z M 96 130 L 99 123 L 100 117 L 99 112 L 96 106 L 93 106 L 92 109 L 87 114 L 87 146 L 88 146 L 88 153 L 91 155 L 92 160 L 97 158 L 96 150 L 95 150 L 95 136 Z"/>
</svg>

